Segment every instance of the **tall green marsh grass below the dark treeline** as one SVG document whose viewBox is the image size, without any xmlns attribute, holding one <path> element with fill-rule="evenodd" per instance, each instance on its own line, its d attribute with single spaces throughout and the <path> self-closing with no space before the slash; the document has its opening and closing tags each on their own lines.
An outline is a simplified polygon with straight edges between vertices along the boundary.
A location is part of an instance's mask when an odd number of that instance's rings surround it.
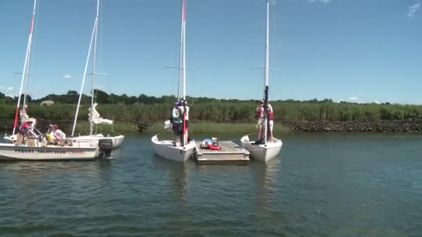
<svg viewBox="0 0 422 237">
<path fill-rule="evenodd" d="M 276 121 L 284 122 L 308 122 L 308 121 L 379 121 L 379 120 L 402 120 L 410 118 L 422 118 L 421 105 L 378 105 L 375 103 L 354 104 L 354 103 L 332 103 L 332 102 L 300 102 L 300 101 L 273 101 Z M 217 101 L 213 103 L 195 103 L 190 107 L 189 118 L 191 121 L 213 121 L 217 123 L 237 123 L 255 121 L 255 107 L 257 104 L 248 101 Z M 169 119 L 171 104 L 134 104 L 134 105 L 100 105 L 98 112 L 107 119 L 116 121 L 115 130 L 128 130 L 137 128 L 133 125 L 140 121 L 149 123 L 160 123 Z M 41 106 L 29 105 L 29 115 L 38 119 L 50 119 L 52 121 L 71 121 L 74 119 L 75 105 L 55 104 Z M 78 114 L 78 121 L 87 121 L 86 105 L 81 106 Z M 15 106 L 0 104 L 0 119 L 12 119 L 15 116 Z M 210 123 L 206 123 L 210 124 Z M 203 127 L 207 127 L 205 125 Z M 243 125 L 230 126 L 230 130 L 242 130 Z M 233 128 L 232 128 L 233 127 Z M 193 127 L 194 128 L 194 127 Z M 199 130 L 211 130 L 212 128 L 201 128 Z M 275 128 L 276 129 L 276 128 Z"/>
</svg>

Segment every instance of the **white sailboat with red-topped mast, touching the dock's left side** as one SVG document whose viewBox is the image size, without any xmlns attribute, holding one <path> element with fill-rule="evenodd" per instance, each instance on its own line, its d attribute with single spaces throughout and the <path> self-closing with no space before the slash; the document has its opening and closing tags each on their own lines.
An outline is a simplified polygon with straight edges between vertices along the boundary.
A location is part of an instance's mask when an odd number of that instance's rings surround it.
<svg viewBox="0 0 422 237">
<path fill-rule="evenodd" d="M 186 99 L 186 60 L 185 60 L 185 23 L 186 23 L 186 3 L 185 0 L 182 1 L 182 26 L 180 30 L 180 58 L 179 58 L 179 76 L 178 76 L 178 85 L 182 82 L 183 88 L 183 100 Z M 180 91 L 180 88 L 178 88 Z M 178 98 L 179 99 L 179 98 Z M 186 109 L 183 109 L 185 112 Z M 175 144 L 174 141 L 164 140 L 161 141 L 158 139 L 158 135 L 154 135 L 151 138 L 155 154 L 160 157 L 171 159 L 174 161 L 186 161 L 196 150 L 195 141 L 187 141 L 186 128 L 185 128 L 185 113 L 183 113 L 183 134 L 181 136 L 180 145 Z"/>
</svg>

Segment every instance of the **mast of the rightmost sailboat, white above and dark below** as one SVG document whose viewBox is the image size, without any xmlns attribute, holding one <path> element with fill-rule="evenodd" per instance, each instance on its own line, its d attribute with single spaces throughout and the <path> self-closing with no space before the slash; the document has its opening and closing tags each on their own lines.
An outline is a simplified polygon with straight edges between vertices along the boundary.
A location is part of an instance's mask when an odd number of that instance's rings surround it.
<svg viewBox="0 0 422 237">
<path fill-rule="evenodd" d="M 269 129 L 268 111 L 268 78 L 269 78 L 269 0 L 267 0 L 267 29 L 265 34 L 265 66 L 264 66 L 264 144 L 267 144 Z"/>
</svg>

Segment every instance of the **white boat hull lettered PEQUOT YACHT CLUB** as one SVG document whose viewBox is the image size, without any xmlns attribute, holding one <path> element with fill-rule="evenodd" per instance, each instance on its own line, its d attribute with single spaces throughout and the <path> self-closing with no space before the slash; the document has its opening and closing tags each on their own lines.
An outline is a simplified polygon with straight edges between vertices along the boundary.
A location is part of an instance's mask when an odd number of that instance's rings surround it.
<svg viewBox="0 0 422 237">
<path fill-rule="evenodd" d="M 77 146 L 16 146 L 0 143 L 0 160 L 90 160 L 99 156 L 99 148 Z"/>
</svg>

